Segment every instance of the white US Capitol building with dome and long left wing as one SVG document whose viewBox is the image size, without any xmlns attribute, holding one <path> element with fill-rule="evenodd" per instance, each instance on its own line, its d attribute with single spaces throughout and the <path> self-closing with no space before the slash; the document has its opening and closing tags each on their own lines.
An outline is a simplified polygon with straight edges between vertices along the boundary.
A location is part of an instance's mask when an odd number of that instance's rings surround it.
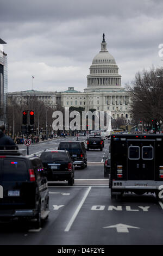
<svg viewBox="0 0 163 256">
<path fill-rule="evenodd" d="M 37 97 L 48 106 L 84 107 L 86 111 L 111 111 L 112 118 L 124 117 L 129 124 L 130 95 L 121 87 L 121 75 L 114 57 L 106 48 L 105 35 L 101 43 L 101 51 L 93 58 L 90 74 L 87 75 L 87 87 L 84 92 L 78 92 L 69 87 L 65 92 L 39 92 L 27 90 L 8 93 L 8 104 L 15 98 L 18 102 L 26 103 L 28 99 Z"/>
</svg>

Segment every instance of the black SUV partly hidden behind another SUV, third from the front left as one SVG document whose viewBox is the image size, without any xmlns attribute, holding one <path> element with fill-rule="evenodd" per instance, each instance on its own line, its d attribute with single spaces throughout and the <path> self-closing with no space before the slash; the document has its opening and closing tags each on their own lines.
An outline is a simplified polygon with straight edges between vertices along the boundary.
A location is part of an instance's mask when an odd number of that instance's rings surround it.
<svg viewBox="0 0 163 256">
<path fill-rule="evenodd" d="M 84 142 L 60 142 L 58 149 L 68 150 L 74 165 L 81 166 L 82 169 L 87 166 L 87 155 Z"/>
</svg>

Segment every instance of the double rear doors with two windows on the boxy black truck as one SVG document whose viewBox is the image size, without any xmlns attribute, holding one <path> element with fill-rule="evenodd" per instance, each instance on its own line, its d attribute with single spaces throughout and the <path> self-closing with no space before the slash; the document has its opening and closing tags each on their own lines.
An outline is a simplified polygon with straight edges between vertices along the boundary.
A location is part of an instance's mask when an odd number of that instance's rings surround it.
<svg viewBox="0 0 163 256">
<path fill-rule="evenodd" d="M 128 180 L 154 180 L 155 140 L 128 139 Z"/>
</svg>

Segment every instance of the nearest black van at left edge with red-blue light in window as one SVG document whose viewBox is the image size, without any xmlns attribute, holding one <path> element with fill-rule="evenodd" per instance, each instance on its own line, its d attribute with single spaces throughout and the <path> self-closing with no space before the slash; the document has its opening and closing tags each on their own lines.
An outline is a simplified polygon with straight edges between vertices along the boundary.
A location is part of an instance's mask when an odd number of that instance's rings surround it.
<svg viewBox="0 0 163 256">
<path fill-rule="evenodd" d="M 39 157 L 23 156 L 17 150 L 0 150 L 0 219 L 35 218 L 36 228 L 48 217 L 47 178 Z"/>
</svg>

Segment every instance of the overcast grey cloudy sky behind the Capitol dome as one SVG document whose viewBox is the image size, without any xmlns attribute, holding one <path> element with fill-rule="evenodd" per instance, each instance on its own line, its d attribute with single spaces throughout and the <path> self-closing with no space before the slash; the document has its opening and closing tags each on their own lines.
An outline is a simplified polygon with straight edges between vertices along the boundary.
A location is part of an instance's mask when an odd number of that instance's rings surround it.
<svg viewBox="0 0 163 256">
<path fill-rule="evenodd" d="M 93 57 L 107 48 L 122 86 L 161 66 L 162 0 L 0 0 L 0 38 L 7 42 L 8 92 L 83 92 Z"/>
</svg>

